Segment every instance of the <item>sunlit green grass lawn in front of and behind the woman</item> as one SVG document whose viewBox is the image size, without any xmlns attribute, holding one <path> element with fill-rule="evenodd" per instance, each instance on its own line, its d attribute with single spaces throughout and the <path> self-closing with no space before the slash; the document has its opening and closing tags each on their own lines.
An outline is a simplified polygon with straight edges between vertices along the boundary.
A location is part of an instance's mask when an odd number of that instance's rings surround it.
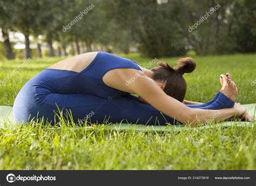
<svg viewBox="0 0 256 186">
<path fill-rule="evenodd" d="M 147 65 L 151 58 L 126 56 Z M 238 102 L 256 102 L 255 54 L 195 56 L 196 71 L 185 74 L 186 99 L 206 102 L 219 90 L 219 75 L 230 72 L 239 88 Z M 0 105 L 12 106 L 21 87 L 59 58 L 32 59 L 0 86 Z M 164 58 L 174 64 L 177 58 Z M 22 60 L 0 61 L 0 80 Z M 155 64 L 156 65 L 156 64 Z M 7 123 L 6 123 L 7 124 Z M 83 127 L 12 126 L 0 129 L 0 169 L 255 169 L 254 127 L 143 132 Z"/>
</svg>

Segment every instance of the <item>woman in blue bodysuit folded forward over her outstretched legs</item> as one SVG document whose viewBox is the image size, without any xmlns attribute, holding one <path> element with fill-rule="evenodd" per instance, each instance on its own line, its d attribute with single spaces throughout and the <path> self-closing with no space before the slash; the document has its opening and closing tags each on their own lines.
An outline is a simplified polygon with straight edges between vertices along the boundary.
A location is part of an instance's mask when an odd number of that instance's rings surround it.
<svg viewBox="0 0 256 186">
<path fill-rule="evenodd" d="M 223 87 L 212 101 L 184 105 L 183 74 L 195 67 L 192 58 L 181 58 L 175 68 L 161 63 L 146 70 L 136 61 L 106 52 L 80 54 L 30 79 L 14 102 L 14 117 L 17 122 L 44 119 L 53 124 L 58 121 L 55 113 L 61 111 L 66 119 L 71 118 L 71 112 L 75 122 L 166 125 L 179 121 L 197 125 L 212 116 L 217 122 L 246 112 L 246 108 L 235 104 L 237 88 L 226 75 L 221 75 Z"/>
</svg>

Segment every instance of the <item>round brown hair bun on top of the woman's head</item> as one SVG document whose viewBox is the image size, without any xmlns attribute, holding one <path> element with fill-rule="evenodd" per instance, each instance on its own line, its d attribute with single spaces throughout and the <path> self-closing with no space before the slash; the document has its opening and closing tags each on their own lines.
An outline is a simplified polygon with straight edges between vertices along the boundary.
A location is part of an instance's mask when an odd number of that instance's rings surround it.
<svg viewBox="0 0 256 186">
<path fill-rule="evenodd" d="M 197 64 L 191 57 L 179 58 L 177 61 L 177 66 L 175 69 L 179 71 L 181 74 L 191 73 L 196 68 Z"/>
</svg>

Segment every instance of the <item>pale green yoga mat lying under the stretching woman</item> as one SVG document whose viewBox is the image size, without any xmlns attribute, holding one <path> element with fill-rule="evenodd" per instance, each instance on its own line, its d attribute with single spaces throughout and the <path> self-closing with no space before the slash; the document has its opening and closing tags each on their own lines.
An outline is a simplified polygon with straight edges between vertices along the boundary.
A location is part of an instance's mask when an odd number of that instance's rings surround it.
<svg viewBox="0 0 256 186">
<path fill-rule="evenodd" d="M 247 108 L 247 113 L 255 116 L 256 104 L 247 104 L 243 105 Z M 10 106 L 0 106 L 0 126 L 3 126 L 3 123 L 8 125 L 17 125 L 12 115 L 12 107 Z M 254 126 L 255 122 L 240 122 L 240 121 L 225 121 L 216 123 L 214 125 L 207 126 L 198 126 L 197 128 L 212 128 L 212 127 L 231 127 L 231 126 Z M 185 126 L 185 125 L 176 125 L 176 126 L 145 126 L 145 125 L 136 125 L 128 123 L 116 123 L 107 125 L 106 128 L 117 129 L 117 130 L 156 130 L 156 131 L 172 131 L 172 130 L 187 130 L 193 129 L 194 127 Z"/>
</svg>

